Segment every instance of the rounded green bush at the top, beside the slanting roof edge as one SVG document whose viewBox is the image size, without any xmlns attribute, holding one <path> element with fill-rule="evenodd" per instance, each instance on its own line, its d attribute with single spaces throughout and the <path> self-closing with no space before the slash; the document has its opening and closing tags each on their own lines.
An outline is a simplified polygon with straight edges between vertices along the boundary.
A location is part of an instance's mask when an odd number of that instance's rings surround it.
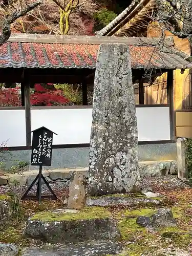
<svg viewBox="0 0 192 256">
<path fill-rule="evenodd" d="M 94 18 L 96 20 L 96 25 L 94 30 L 100 30 L 108 25 L 114 18 L 117 17 L 117 14 L 113 11 L 109 11 L 106 8 L 102 8 L 100 11 L 95 13 Z"/>
</svg>

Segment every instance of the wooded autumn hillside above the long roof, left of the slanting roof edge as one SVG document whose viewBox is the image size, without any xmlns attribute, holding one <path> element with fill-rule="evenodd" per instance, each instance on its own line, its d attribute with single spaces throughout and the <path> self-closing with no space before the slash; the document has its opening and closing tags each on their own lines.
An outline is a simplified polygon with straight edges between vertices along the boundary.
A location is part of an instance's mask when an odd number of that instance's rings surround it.
<svg viewBox="0 0 192 256">
<path fill-rule="evenodd" d="M 72 11 L 68 8 L 70 2 Z M 45 0 L 26 16 L 17 19 L 12 24 L 12 33 L 93 35 L 130 3 L 131 0 Z M 6 14 L 1 12 L 0 15 L 3 20 Z"/>
</svg>

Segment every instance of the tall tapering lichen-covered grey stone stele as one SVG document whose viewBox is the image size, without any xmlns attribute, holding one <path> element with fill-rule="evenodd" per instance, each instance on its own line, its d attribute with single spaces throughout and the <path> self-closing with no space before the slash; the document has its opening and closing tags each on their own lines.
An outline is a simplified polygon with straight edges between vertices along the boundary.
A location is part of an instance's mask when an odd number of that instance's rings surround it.
<svg viewBox="0 0 192 256">
<path fill-rule="evenodd" d="M 90 195 L 137 190 L 137 118 L 131 58 L 125 44 L 100 45 L 92 115 Z"/>
</svg>

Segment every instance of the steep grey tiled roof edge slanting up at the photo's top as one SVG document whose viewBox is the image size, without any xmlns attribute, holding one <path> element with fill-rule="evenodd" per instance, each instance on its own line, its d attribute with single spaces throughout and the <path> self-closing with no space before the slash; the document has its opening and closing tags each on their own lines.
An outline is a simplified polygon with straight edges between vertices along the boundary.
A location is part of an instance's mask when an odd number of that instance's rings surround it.
<svg viewBox="0 0 192 256">
<path fill-rule="evenodd" d="M 110 24 L 106 25 L 103 29 L 97 31 L 95 34 L 97 36 L 104 36 L 111 32 L 116 26 L 120 25 L 124 19 L 127 18 L 128 15 L 132 14 L 134 11 L 139 11 L 139 9 L 143 8 L 143 6 L 148 3 L 149 0 L 133 0 L 131 5 L 127 7 L 124 11 L 122 11 L 116 18 L 110 22 Z"/>
</svg>

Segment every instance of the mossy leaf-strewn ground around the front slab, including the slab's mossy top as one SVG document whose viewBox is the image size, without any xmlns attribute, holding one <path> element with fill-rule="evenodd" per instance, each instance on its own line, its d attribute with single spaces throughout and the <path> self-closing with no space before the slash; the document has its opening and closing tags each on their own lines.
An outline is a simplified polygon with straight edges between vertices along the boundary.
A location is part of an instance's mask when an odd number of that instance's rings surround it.
<svg viewBox="0 0 192 256">
<path fill-rule="evenodd" d="M 147 255 L 148 252 L 153 254 L 158 249 L 167 248 L 170 245 L 188 250 L 192 240 L 192 189 L 160 192 L 167 197 L 162 207 L 172 208 L 174 218 L 178 221 L 177 227 L 159 229 L 151 233 L 136 224 L 138 216 L 151 216 L 160 206 L 140 205 L 137 208 L 86 207 L 78 214 L 57 215 L 50 214 L 48 210 L 63 208 L 63 199 L 57 201 L 45 200 L 40 205 L 35 201 L 28 200 L 20 201 L 14 217 L 5 227 L 1 227 L 0 241 L 15 243 L 19 247 L 31 246 L 33 244 L 43 245 L 40 241 L 33 241 L 23 237 L 25 222 L 34 214 L 33 219 L 41 219 L 42 221 L 107 218 L 110 216 L 118 221 L 121 242 L 125 245 L 125 250 L 119 256 L 140 256 Z M 6 199 L 6 196 L 0 196 L 1 199 Z M 154 255 L 156 254 L 154 253 Z"/>
</svg>

